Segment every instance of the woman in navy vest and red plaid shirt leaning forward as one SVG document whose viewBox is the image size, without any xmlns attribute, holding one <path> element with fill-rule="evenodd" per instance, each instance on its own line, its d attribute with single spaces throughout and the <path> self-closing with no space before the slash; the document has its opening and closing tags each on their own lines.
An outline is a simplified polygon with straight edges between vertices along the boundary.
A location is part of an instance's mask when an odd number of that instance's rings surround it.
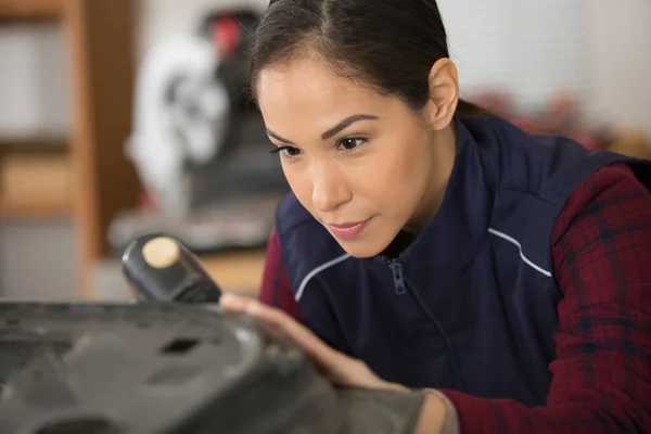
<svg viewBox="0 0 651 434">
<path fill-rule="evenodd" d="M 263 303 L 419 432 L 651 430 L 651 166 L 459 100 L 434 0 L 278 0 L 251 84 L 290 194 Z M 270 306 L 269 306 L 270 305 Z"/>
</svg>

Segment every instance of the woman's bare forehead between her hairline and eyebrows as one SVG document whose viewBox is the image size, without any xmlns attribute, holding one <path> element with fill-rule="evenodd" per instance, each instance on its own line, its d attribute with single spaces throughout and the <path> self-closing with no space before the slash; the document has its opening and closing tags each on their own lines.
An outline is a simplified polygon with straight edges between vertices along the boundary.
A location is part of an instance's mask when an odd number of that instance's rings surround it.
<svg viewBox="0 0 651 434">
<path fill-rule="evenodd" d="M 264 69 L 257 81 L 257 99 L 267 122 L 290 115 L 306 117 L 350 115 L 349 112 L 382 111 L 385 98 L 341 75 L 323 61 L 299 58 Z M 339 122 L 341 119 L 336 119 Z"/>
</svg>

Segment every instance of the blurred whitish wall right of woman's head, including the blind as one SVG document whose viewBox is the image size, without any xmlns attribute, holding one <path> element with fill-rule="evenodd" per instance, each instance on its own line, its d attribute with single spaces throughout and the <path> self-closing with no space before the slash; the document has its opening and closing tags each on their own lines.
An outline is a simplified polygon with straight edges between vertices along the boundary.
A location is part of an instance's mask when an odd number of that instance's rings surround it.
<svg viewBox="0 0 651 434">
<path fill-rule="evenodd" d="M 651 1 L 438 0 L 462 90 L 508 88 L 535 107 L 559 88 L 588 117 L 651 137 Z"/>
</svg>

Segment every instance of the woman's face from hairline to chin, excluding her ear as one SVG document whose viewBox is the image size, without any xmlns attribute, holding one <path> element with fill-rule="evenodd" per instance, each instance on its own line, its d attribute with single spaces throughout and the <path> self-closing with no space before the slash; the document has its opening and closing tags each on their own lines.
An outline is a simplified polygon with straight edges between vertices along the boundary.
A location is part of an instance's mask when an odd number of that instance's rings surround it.
<svg viewBox="0 0 651 434">
<path fill-rule="evenodd" d="M 445 190 L 433 176 L 433 130 L 397 98 L 310 58 L 263 71 L 257 97 L 292 191 L 353 256 L 378 255 L 406 226 L 422 226 Z"/>
</svg>

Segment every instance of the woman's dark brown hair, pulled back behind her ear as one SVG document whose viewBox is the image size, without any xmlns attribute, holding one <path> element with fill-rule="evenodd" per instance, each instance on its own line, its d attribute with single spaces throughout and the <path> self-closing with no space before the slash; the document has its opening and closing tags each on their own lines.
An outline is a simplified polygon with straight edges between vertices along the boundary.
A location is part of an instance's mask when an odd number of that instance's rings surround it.
<svg viewBox="0 0 651 434">
<path fill-rule="evenodd" d="M 398 97 L 413 110 L 427 101 L 434 63 L 449 58 L 435 0 L 275 0 L 250 51 L 253 99 L 264 68 L 304 53 L 321 56 L 337 74 Z M 483 113 L 459 101 L 458 115 Z"/>
</svg>

